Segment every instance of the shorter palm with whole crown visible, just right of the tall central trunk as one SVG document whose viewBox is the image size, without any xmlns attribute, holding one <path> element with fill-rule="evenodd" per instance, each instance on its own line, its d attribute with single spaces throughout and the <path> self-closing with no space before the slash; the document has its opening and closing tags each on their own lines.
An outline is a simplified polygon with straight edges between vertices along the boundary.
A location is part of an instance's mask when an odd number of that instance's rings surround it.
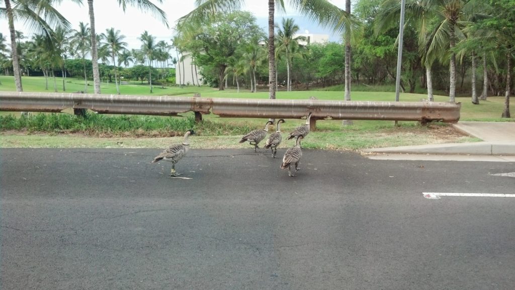
<svg viewBox="0 0 515 290">
<path fill-rule="evenodd" d="M 300 30 L 299 26 L 294 23 L 293 18 L 287 18 L 282 21 L 282 27 L 279 27 L 277 31 L 277 39 L 279 40 L 279 47 L 284 48 L 286 53 L 286 90 L 291 91 L 291 46 L 298 43 L 298 41 L 305 41 L 306 38 L 303 36 L 297 36 L 297 32 Z"/>
</svg>

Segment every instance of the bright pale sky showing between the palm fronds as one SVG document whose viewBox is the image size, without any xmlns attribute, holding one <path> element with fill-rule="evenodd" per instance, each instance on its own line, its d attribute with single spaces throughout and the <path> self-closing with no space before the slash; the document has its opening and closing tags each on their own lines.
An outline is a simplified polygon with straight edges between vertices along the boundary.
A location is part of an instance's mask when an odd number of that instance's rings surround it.
<svg viewBox="0 0 515 290">
<path fill-rule="evenodd" d="M 88 3 L 86 0 L 82 0 L 82 6 L 72 3 L 71 1 L 63 1 L 58 10 L 70 21 L 73 29 L 78 29 L 79 23 L 89 23 L 88 15 Z M 345 9 L 344 0 L 333 0 L 333 4 L 338 7 Z M 153 1 L 157 3 L 157 1 Z M 246 6 L 243 10 L 250 11 L 256 16 L 258 25 L 267 28 L 268 22 L 268 1 L 266 0 L 247 0 L 245 1 Z M 173 37 L 172 28 L 175 26 L 176 21 L 183 15 L 192 11 L 195 8 L 195 0 L 164 0 L 164 3 L 158 5 L 161 9 L 166 12 L 168 23 L 170 28 L 161 22 L 158 18 L 153 18 L 151 13 L 144 13 L 138 8 L 127 6 L 125 13 L 118 6 L 116 0 L 96 0 L 93 2 L 95 10 L 95 29 L 96 32 L 105 32 L 107 28 L 114 27 L 119 29 L 122 35 L 125 35 L 125 42 L 127 42 L 127 48 L 140 48 L 141 42 L 138 40 L 141 33 L 147 30 L 150 35 L 155 36 L 157 41 L 164 40 L 171 43 L 170 39 Z M 3 3 L 2 6 L 5 7 Z M 311 23 L 307 19 L 302 19 L 295 15 L 295 11 L 291 8 L 286 8 L 286 15 L 278 15 L 276 13 L 276 22 L 281 17 L 294 17 L 296 23 L 300 26 L 300 32 L 302 33 L 318 33 L 330 35 L 331 41 L 338 41 L 338 36 L 332 35 L 330 31 L 324 31 L 319 28 L 316 24 Z M 24 35 L 30 37 L 30 31 L 23 25 L 23 22 L 17 21 L 14 23 L 16 30 L 21 30 Z M 0 19 L 0 32 L 4 34 L 9 40 L 9 29 L 7 20 Z"/>
</svg>

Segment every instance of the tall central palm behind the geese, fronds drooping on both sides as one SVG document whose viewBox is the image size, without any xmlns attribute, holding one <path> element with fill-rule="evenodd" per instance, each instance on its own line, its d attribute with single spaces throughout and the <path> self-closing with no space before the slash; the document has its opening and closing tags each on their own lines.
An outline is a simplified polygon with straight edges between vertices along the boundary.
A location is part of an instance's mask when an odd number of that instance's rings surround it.
<svg viewBox="0 0 515 290">
<path fill-rule="evenodd" d="M 229 13 L 241 10 L 245 1 L 243 0 L 198 0 L 197 8 L 179 19 L 181 23 L 189 23 L 193 26 L 201 26 L 209 23 L 218 13 Z M 294 9 L 301 14 L 316 20 L 323 27 L 331 27 L 335 31 L 359 31 L 357 20 L 347 12 L 339 9 L 328 0 L 290 0 Z M 284 11 L 283 0 L 268 0 L 268 84 L 269 98 L 276 98 L 276 66 L 275 66 L 275 44 L 274 44 L 274 14 L 275 10 Z M 354 35 L 358 37 L 358 33 Z"/>
</svg>

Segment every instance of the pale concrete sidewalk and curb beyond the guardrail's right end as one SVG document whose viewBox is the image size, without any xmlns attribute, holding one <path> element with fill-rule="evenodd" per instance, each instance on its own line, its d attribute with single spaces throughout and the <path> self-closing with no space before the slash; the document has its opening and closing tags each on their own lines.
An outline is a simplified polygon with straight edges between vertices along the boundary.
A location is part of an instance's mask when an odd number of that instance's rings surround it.
<svg viewBox="0 0 515 290">
<path fill-rule="evenodd" d="M 370 148 L 363 150 L 373 159 L 473 160 L 515 162 L 515 123 L 459 122 L 457 130 L 483 140 L 419 146 Z M 380 154 L 381 153 L 381 154 Z"/>
</svg>

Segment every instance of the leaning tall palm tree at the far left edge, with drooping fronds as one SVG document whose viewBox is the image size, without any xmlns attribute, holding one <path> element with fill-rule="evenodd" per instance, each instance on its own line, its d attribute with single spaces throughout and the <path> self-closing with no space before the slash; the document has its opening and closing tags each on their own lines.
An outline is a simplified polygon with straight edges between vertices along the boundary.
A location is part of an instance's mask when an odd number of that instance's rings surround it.
<svg viewBox="0 0 515 290">
<path fill-rule="evenodd" d="M 70 28 L 70 23 L 53 7 L 58 0 L 2 0 L 5 4 L 5 15 L 9 25 L 9 35 L 11 38 L 11 57 L 14 73 L 14 83 L 16 91 L 22 92 L 22 78 L 18 52 L 16 51 L 16 32 L 14 29 L 14 19 L 22 19 L 28 27 L 33 28 L 36 33 L 52 35 L 52 27 L 58 25 L 65 29 Z M 81 0 L 72 0 L 80 3 Z M 3 10 L 3 9 L 2 9 Z M 4 15 L 4 13 L 2 13 Z"/>
</svg>

